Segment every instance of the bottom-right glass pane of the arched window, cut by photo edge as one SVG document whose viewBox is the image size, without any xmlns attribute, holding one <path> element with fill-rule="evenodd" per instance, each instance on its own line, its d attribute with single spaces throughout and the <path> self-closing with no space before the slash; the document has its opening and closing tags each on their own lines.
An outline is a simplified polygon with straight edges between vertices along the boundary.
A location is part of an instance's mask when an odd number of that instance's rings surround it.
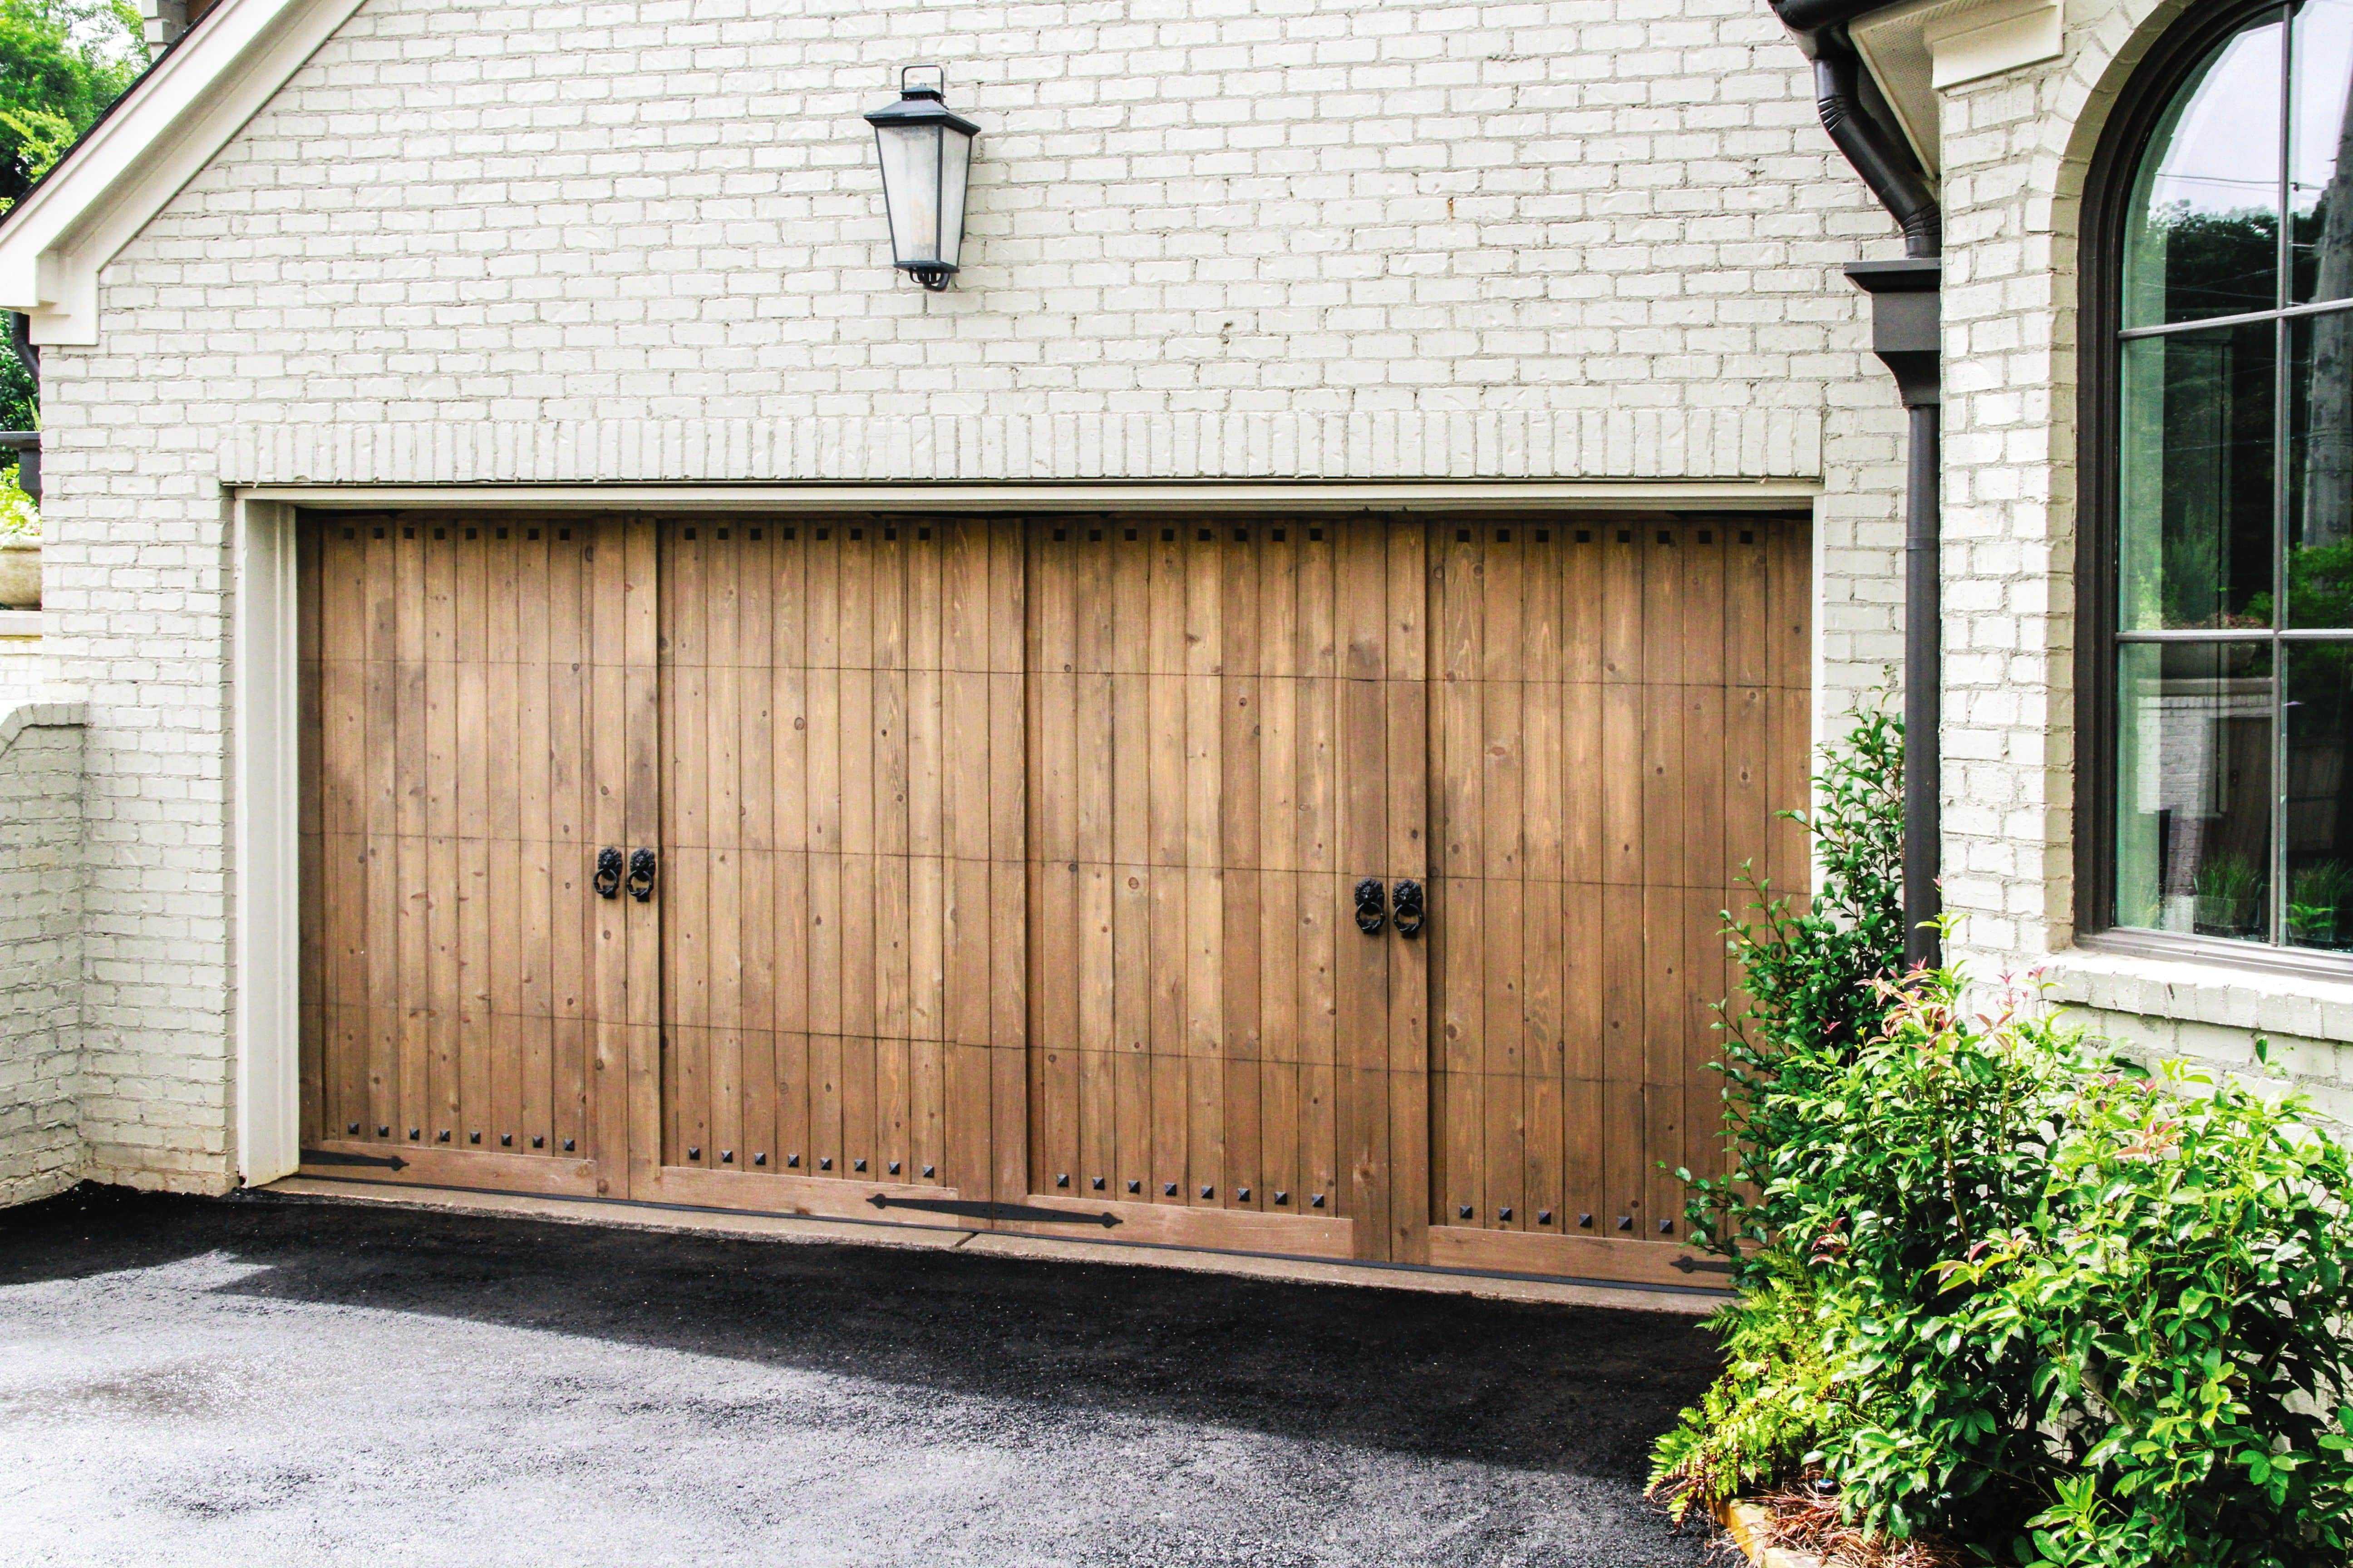
<svg viewBox="0 0 2353 1568">
<path fill-rule="evenodd" d="M 2287 644 L 2287 940 L 2353 947 L 2353 642 Z"/>
</svg>

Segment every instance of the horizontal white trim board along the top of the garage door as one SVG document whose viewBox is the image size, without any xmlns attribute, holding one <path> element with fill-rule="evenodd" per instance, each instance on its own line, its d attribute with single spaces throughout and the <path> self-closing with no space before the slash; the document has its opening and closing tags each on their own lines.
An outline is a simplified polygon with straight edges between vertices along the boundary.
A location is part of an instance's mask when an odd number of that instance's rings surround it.
<svg viewBox="0 0 2353 1568">
<path fill-rule="evenodd" d="M 755 510 L 755 512 L 1414 512 L 1800 510 L 1821 484 L 1426 482 L 1426 484 L 256 484 L 249 505 L 313 510 Z"/>
</svg>

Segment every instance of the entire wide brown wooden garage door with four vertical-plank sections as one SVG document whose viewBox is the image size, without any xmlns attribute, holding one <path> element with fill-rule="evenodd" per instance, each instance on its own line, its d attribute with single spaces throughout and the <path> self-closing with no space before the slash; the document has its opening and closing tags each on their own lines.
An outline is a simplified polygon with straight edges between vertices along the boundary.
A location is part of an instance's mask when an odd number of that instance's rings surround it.
<svg viewBox="0 0 2353 1568">
<path fill-rule="evenodd" d="M 1687 1279 L 1718 910 L 1805 884 L 1802 522 L 329 517 L 301 574 L 306 1164 Z"/>
</svg>

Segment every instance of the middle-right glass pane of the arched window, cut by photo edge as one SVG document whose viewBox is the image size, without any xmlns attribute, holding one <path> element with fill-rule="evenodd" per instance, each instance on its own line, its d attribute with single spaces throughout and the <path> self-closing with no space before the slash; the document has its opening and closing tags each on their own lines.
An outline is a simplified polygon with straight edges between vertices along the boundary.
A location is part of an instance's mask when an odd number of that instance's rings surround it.
<svg viewBox="0 0 2353 1568">
<path fill-rule="evenodd" d="M 2287 625 L 2353 628 L 2353 310 L 2287 343 Z"/>
</svg>

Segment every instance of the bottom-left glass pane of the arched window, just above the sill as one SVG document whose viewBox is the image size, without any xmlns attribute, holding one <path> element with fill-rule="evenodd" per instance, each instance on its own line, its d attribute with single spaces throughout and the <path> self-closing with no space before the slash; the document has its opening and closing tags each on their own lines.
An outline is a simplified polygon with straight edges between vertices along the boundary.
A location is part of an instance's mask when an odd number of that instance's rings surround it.
<svg viewBox="0 0 2353 1568">
<path fill-rule="evenodd" d="M 2271 646 L 2118 649 L 2115 924 L 2264 940 Z"/>
</svg>

